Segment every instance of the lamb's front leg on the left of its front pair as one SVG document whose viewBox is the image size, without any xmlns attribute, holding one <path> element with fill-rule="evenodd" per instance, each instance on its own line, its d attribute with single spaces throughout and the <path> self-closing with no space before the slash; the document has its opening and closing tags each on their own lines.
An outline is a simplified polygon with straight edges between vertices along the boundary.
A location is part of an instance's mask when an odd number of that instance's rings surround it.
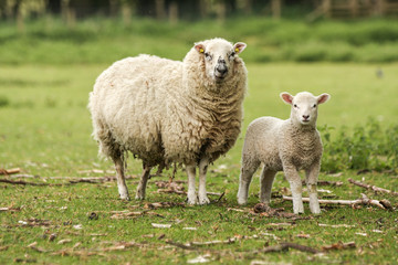
<svg viewBox="0 0 398 265">
<path fill-rule="evenodd" d="M 297 169 L 293 165 L 284 165 L 283 171 L 286 176 L 286 179 L 292 190 L 293 212 L 295 214 L 304 213 L 303 197 L 302 197 L 303 188 Z"/>
</svg>

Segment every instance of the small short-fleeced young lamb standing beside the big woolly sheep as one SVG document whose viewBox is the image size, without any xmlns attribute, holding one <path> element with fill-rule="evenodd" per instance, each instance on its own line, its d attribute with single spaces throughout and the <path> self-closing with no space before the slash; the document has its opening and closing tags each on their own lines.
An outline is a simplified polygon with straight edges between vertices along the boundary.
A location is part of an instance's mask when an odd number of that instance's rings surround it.
<svg viewBox="0 0 398 265">
<path fill-rule="evenodd" d="M 293 212 L 303 213 L 298 170 L 304 169 L 310 193 L 310 210 L 312 213 L 321 213 L 316 184 L 323 147 L 316 129 L 316 118 L 318 105 L 327 102 L 329 97 L 328 94 L 314 96 L 308 92 L 295 96 L 282 93 L 281 98 L 292 105 L 289 119 L 261 117 L 249 125 L 242 151 L 239 204 L 248 202 L 252 176 L 263 162 L 260 180 L 261 202 L 270 203 L 275 173 L 283 170 L 292 190 Z"/>
</svg>

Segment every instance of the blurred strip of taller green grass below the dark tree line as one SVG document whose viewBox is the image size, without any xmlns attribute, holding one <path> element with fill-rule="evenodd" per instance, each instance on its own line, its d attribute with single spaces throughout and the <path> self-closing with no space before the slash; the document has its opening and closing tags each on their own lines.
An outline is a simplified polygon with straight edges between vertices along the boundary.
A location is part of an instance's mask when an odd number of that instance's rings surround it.
<svg viewBox="0 0 398 265">
<path fill-rule="evenodd" d="M 67 28 L 59 18 L 27 21 L 24 32 L 0 23 L 0 63 L 108 63 L 139 53 L 181 60 L 195 42 L 221 36 L 248 43 L 247 62 L 398 61 L 398 23 L 388 19 L 359 21 L 275 21 L 237 17 L 180 22 L 91 18 Z"/>
</svg>

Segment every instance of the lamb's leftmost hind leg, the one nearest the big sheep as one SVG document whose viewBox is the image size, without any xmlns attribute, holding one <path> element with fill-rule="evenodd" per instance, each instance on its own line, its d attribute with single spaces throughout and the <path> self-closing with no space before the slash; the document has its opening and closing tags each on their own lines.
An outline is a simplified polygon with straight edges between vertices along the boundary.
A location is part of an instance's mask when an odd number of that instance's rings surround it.
<svg viewBox="0 0 398 265">
<path fill-rule="evenodd" d="M 248 203 L 249 187 L 255 170 L 259 168 L 260 162 L 249 162 L 244 156 L 242 158 L 242 168 L 239 176 L 239 190 L 238 190 L 238 203 L 243 205 Z"/>
</svg>

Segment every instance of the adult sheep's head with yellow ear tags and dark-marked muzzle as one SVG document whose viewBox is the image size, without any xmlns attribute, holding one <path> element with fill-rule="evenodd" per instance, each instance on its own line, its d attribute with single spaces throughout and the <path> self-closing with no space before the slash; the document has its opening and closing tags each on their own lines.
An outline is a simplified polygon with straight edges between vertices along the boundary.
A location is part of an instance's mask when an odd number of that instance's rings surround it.
<svg viewBox="0 0 398 265">
<path fill-rule="evenodd" d="M 205 61 L 206 75 L 210 80 L 221 83 L 232 75 L 235 59 L 245 46 L 247 44 L 242 42 L 232 45 L 223 39 L 213 39 L 196 43 L 195 50 Z"/>
</svg>

